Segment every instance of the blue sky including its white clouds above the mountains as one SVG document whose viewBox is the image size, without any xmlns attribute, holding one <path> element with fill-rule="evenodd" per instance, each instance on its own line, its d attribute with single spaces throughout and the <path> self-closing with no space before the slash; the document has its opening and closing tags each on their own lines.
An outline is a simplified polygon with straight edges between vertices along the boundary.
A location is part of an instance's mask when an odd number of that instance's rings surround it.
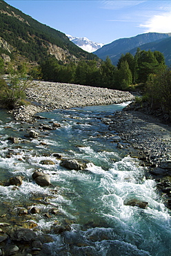
<svg viewBox="0 0 171 256">
<path fill-rule="evenodd" d="M 6 0 L 5 0 L 6 1 Z M 74 37 L 109 44 L 142 33 L 171 33 L 171 1 L 7 0 L 37 21 Z"/>
</svg>

